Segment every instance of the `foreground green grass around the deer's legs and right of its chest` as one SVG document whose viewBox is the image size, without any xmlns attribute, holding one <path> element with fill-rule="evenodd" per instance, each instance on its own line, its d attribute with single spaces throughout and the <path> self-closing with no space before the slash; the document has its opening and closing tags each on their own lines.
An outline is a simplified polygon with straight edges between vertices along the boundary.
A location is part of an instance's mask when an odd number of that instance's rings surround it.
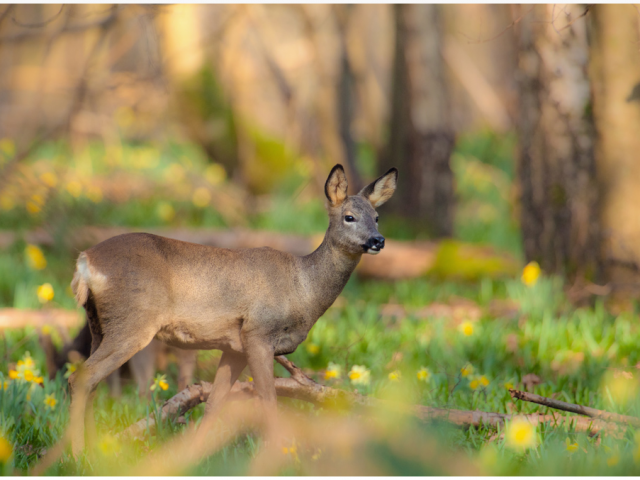
<svg viewBox="0 0 640 480">
<path fill-rule="evenodd" d="M 573 310 L 557 293 L 561 291 L 558 287 L 558 280 L 552 278 L 543 278 L 532 288 L 516 279 L 468 285 L 427 279 L 395 284 L 353 279 L 339 306 L 331 308 L 318 321 L 309 338 L 290 358 L 299 366 L 317 372 L 314 376 L 320 380 L 319 372 L 329 362 L 341 365 L 342 377 L 326 381 L 331 386 L 346 390 L 358 388 L 360 393 L 383 398 L 393 398 L 394 392 L 401 391 L 405 401 L 430 406 L 500 413 L 544 411 L 543 407 L 533 404 L 513 404 L 505 387 L 509 383 L 517 385 L 524 375 L 534 373 L 542 380 L 535 387 L 535 393 L 639 415 L 636 402 L 626 406 L 616 403 L 612 387 L 609 386 L 608 391 L 605 385 L 608 381 L 606 375 L 611 369 L 632 371 L 635 370 L 632 366 L 640 361 L 637 350 L 640 327 L 637 322 L 631 315 L 611 316 L 601 306 Z M 489 307 L 492 300 L 511 299 L 520 302 L 520 309 L 516 318 L 495 318 L 484 313 L 474 323 L 470 336 L 464 335 L 450 318 L 416 318 L 411 313 L 432 302 L 447 302 L 459 297 L 467 298 L 481 308 Z M 381 306 L 390 301 L 404 305 L 409 313 L 396 319 L 381 317 Z M 5 338 L 10 350 L 4 352 L 0 363 L 4 374 L 9 365 L 27 350 L 33 353 L 40 367 L 44 365 L 37 332 L 7 331 Z M 396 362 L 390 365 L 394 358 Z M 353 385 L 346 378 L 345 372 L 353 365 L 362 365 L 370 370 L 369 385 Z M 473 366 L 473 375 L 485 375 L 490 383 L 486 387 L 472 389 L 470 377 L 460 374 L 461 368 L 468 365 Z M 426 367 L 432 373 L 428 382 L 418 381 L 416 372 L 420 367 Z M 402 372 L 401 382 L 388 378 L 389 373 L 396 369 Z M 284 370 L 278 367 L 277 373 L 283 375 Z M 170 369 L 168 375 L 171 387 L 156 394 L 159 395 L 157 402 L 176 393 L 175 369 Z M 54 393 L 60 400 L 55 410 L 44 408 L 45 393 Z M 30 400 L 26 399 L 26 394 L 26 385 L 16 382 L 0 393 L 3 432 L 16 446 L 30 445 L 27 449 L 16 448 L 13 462 L 20 471 L 33 464 L 40 449 L 49 447 L 60 437 L 68 421 L 68 396 L 65 381 L 60 376 L 54 381 L 45 381 L 44 389 L 35 388 Z M 285 403 L 292 405 L 291 402 Z M 108 396 L 106 386 L 101 385 L 96 402 L 99 432 L 117 432 L 144 418 L 154 408 L 154 403 L 141 399 L 132 386 L 125 388 L 121 399 L 114 400 Z M 188 417 L 190 421 L 197 421 L 201 414 L 202 407 L 198 407 Z M 122 454 L 123 461 L 140 459 L 181 428 L 166 424 L 158 435 L 135 443 L 132 450 Z M 412 425 L 409 430 L 415 429 L 428 437 L 435 436 L 446 449 L 475 462 L 489 461 L 485 459 L 491 457 L 487 449 L 495 449 L 498 460 L 494 458 L 491 460 L 494 463 L 489 462 L 491 465 L 485 466 L 495 474 L 640 472 L 633 461 L 638 447 L 632 431 L 620 439 L 606 435 L 598 439 L 546 425 L 538 431 L 541 438 L 539 447 L 519 454 L 505 447 L 503 440 L 492 440 L 498 433 L 492 428 L 463 429 L 426 424 Z M 566 451 L 566 438 L 579 444 L 577 452 Z M 244 473 L 259 443 L 259 437 L 254 434 L 243 435 L 194 467 L 192 473 Z M 607 452 L 605 446 L 620 453 L 618 464 L 607 464 L 613 453 Z M 428 473 L 424 466 L 412 467 L 402 460 L 402 456 L 393 453 L 392 446 L 385 442 L 367 448 L 386 451 L 393 473 Z M 100 463 L 76 464 L 67 456 L 61 464 L 52 467 L 50 473 L 96 474 L 116 470 Z"/>
</svg>

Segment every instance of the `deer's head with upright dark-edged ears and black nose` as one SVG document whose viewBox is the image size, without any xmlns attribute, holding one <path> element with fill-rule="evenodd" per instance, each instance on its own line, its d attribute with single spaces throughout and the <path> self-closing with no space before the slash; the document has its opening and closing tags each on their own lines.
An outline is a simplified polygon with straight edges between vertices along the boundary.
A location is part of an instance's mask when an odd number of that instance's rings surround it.
<svg viewBox="0 0 640 480">
<path fill-rule="evenodd" d="M 398 170 L 392 168 L 357 195 L 349 196 L 342 165 L 333 167 L 324 186 L 332 243 L 351 254 L 380 253 L 384 248 L 384 237 L 378 232 L 375 209 L 391 198 L 397 181 Z"/>
</svg>

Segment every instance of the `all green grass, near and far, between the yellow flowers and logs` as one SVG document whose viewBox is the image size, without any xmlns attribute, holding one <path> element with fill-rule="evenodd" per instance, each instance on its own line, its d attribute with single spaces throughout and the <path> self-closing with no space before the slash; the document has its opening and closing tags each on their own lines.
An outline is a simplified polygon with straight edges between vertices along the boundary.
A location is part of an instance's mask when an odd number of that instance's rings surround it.
<svg viewBox="0 0 640 480">
<path fill-rule="evenodd" d="M 459 139 L 452 159 L 458 195 L 456 242 L 492 245 L 521 258 L 521 239 L 512 201 L 513 145 L 512 138 L 490 133 Z M 364 170 L 372 173 L 371 152 L 365 147 L 361 150 Z M 55 188 L 45 188 L 39 180 L 45 172 L 56 172 Z M 301 167 L 283 178 L 278 190 L 269 197 L 268 207 L 251 210 L 244 226 L 297 234 L 323 232 L 327 223 L 323 200 L 309 195 L 303 188 L 305 182 L 309 182 L 305 172 Z M 78 196 L 67 188 L 68 182 L 74 180 L 82 184 L 83 190 Z M 126 181 L 133 187 L 146 187 L 125 200 L 92 200 L 89 188 L 101 181 L 116 184 Z M 50 247 L 43 247 L 47 266 L 37 271 L 28 266 L 24 241 L 19 240 L 0 251 L 0 307 L 75 308 L 68 285 L 78 252 L 70 251 L 63 241 L 73 227 L 225 228 L 234 225 L 229 205 L 223 208 L 213 200 L 206 207 L 194 204 L 192 193 L 199 187 L 206 187 L 212 194 L 222 192 L 233 196 L 232 186 L 226 181 L 220 182 L 215 169 L 208 170 L 204 155 L 191 145 L 168 142 L 105 150 L 90 144 L 80 152 L 71 151 L 64 143 L 44 145 L 21 166 L 16 182 L 8 193 L 3 193 L 10 195 L 11 205 L 6 197 L 0 197 L 0 225 L 15 232 L 44 228 L 56 241 Z M 46 201 L 39 212 L 29 213 L 27 202 L 41 190 Z M 167 204 L 173 215 L 162 214 Z M 393 219 L 386 218 L 381 210 L 380 229 L 385 236 L 403 238 L 410 231 L 409 227 L 394 225 Z M 446 256 L 443 259 L 447 268 L 455 267 Z M 409 403 L 500 413 L 545 412 L 546 409 L 533 404 L 513 403 L 506 388 L 517 386 L 527 374 L 535 374 L 541 383 L 534 391 L 540 395 L 640 415 L 635 401 L 640 325 L 634 312 L 614 316 L 601 303 L 576 309 L 567 302 L 562 281 L 557 278 L 542 277 L 535 286 L 527 287 L 517 274 L 494 280 L 481 273 L 474 275 L 477 281 L 473 282 L 452 281 L 446 275 L 394 283 L 354 277 L 337 304 L 318 321 L 308 339 L 290 358 L 312 377 L 333 387 L 357 389 L 359 393 L 380 398 L 397 400 L 400 397 Z M 55 297 L 43 306 L 36 290 L 46 282 L 53 286 Z M 439 318 L 420 313 L 434 303 L 461 305 L 460 299 L 471 302 L 481 312 L 479 320 L 472 322 L 471 335 L 465 335 L 459 328 L 470 314 Z M 507 301 L 516 305 L 516 311 L 510 315 L 496 314 L 499 302 L 504 305 Z M 387 304 L 402 306 L 404 313 L 398 317 L 383 316 L 381 312 L 389 308 L 385 307 Z M 27 351 L 44 370 L 45 357 L 37 331 L 5 330 L 2 335 L 0 382 Z M 53 335 L 59 345 L 59 335 L 56 332 Z M 211 358 L 211 353 L 200 353 L 196 378 L 213 378 L 214 372 L 206 366 Z M 325 381 L 323 371 L 330 362 L 341 367 L 342 376 Z M 354 365 L 370 371 L 368 385 L 355 385 L 348 379 L 346 374 Z M 473 367 L 473 374 L 463 377 L 461 369 L 469 366 Z M 417 378 L 422 367 L 431 373 L 427 382 Z M 401 372 L 399 382 L 389 378 L 395 371 Z M 286 374 L 280 366 L 276 366 L 276 372 Z M 614 373 L 620 375 L 620 372 L 633 375 L 634 379 L 621 386 L 620 379 L 624 377 L 613 378 Z M 475 384 L 471 382 L 481 376 L 486 377 L 488 385 L 472 388 Z M 177 393 L 175 366 L 170 366 L 168 378 L 169 390 L 155 392 L 151 401 L 141 398 L 133 385 L 125 386 L 120 399 L 111 398 L 106 385 L 100 385 L 95 408 L 99 434 L 113 434 L 152 414 L 162 401 Z M 54 380 L 45 379 L 44 388 L 35 387 L 30 391 L 29 388 L 26 384 L 10 382 L 7 389 L 0 390 L 0 434 L 11 442 L 14 452 L 2 467 L 5 474 L 28 473 L 38 456 L 61 438 L 68 424 L 67 383 L 62 374 Z M 621 400 L 624 391 L 620 390 L 624 388 L 632 393 L 632 400 L 626 403 Z M 55 409 L 45 407 L 46 394 L 55 395 L 58 400 Z M 327 413 L 294 401 L 281 401 L 281 407 L 312 417 Z M 186 421 L 198 422 L 202 414 L 201 405 L 185 416 Z M 345 422 L 361 421 L 359 425 L 363 428 L 384 423 L 384 419 L 371 420 L 362 412 L 340 414 L 344 415 Z M 224 425 L 220 428 L 224 429 Z M 491 427 L 464 429 L 442 422 L 398 421 L 397 425 L 380 428 L 384 435 L 376 436 L 376 430 L 372 430 L 374 433 L 360 443 L 354 453 L 354 458 L 375 459 L 376 473 L 451 473 L 451 464 L 457 461 L 471 465 L 472 473 L 497 475 L 640 473 L 640 466 L 634 460 L 638 444 L 631 429 L 619 438 L 588 437 L 544 425 L 537 431 L 539 446 L 518 453 L 505 444 L 502 431 Z M 47 474 L 126 474 L 127 465 L 156 451 L 183 429 L 181 425 L 165 423 L 155 435 L 126 444 L 117 455 L 108 445 L 103 445 L 105 448 L 99 450 L 97 458 L 78 462 L 67 452 Z M 578 443 L 576 452 L 566 450 L 567 438 Z M 407 439 L 411 440 L 408 447 L 402 443 Z M 429 451 L 446 458 L 448 463 L 427 462 L 411 456 L 409 447 L 416 445 L 436 445 L 425 448 L 431 448 Z M 246 474 L 260 446 L 259 435 L 240 435 L 184 473 Z M 617 461 L 616 455 L 619 455 Z M 340 468 L 341 460 L 332 458 L 326 453 L 326 457 L 312 460 L 301 453 L 299 463 L 292 462 L 280 473 L 313 473 L 319 465 L 313 462 L 326 462 L 328 467 Z M 364 464 L 359 468 L 362 470 L 356 471 L 370 472 Z M 332 473 L 341 472 L 333 470 Z"/>
</svg>

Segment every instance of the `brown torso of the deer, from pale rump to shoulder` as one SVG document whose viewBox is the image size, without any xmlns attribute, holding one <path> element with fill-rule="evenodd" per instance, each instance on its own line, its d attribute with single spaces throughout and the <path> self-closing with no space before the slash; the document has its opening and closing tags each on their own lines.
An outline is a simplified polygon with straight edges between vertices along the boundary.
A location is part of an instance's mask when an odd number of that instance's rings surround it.
<svg viewBox="0 0 640 480">
<path fill-rule="evenodd" d="M 82 255 L 86 265 L 79 260 L 78 272 L 84 268 L 98 311 L 108 312 L 107 323 L 135 311 L 158 328 L 182 325 L 190 331 L 186 338 L 212 326 L 303 314 L 296 301 L 297 259 L 270 248 L 229 250 L 131 233 Z"/>
</svg>

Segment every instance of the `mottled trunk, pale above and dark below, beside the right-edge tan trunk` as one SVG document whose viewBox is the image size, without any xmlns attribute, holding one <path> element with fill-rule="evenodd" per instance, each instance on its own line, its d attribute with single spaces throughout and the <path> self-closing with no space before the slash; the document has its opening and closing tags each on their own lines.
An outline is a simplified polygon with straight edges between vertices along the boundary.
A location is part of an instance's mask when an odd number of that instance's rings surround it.
<svg viewBox="0 0 640 480">
<path fill-rule="evenodd" d="M 527 261 L 594 280 L 600 262 L 585 7 L 520 7 L 521 225 Z M 554 19 L 551 21 L 551 19 Z"/>
</svg>

